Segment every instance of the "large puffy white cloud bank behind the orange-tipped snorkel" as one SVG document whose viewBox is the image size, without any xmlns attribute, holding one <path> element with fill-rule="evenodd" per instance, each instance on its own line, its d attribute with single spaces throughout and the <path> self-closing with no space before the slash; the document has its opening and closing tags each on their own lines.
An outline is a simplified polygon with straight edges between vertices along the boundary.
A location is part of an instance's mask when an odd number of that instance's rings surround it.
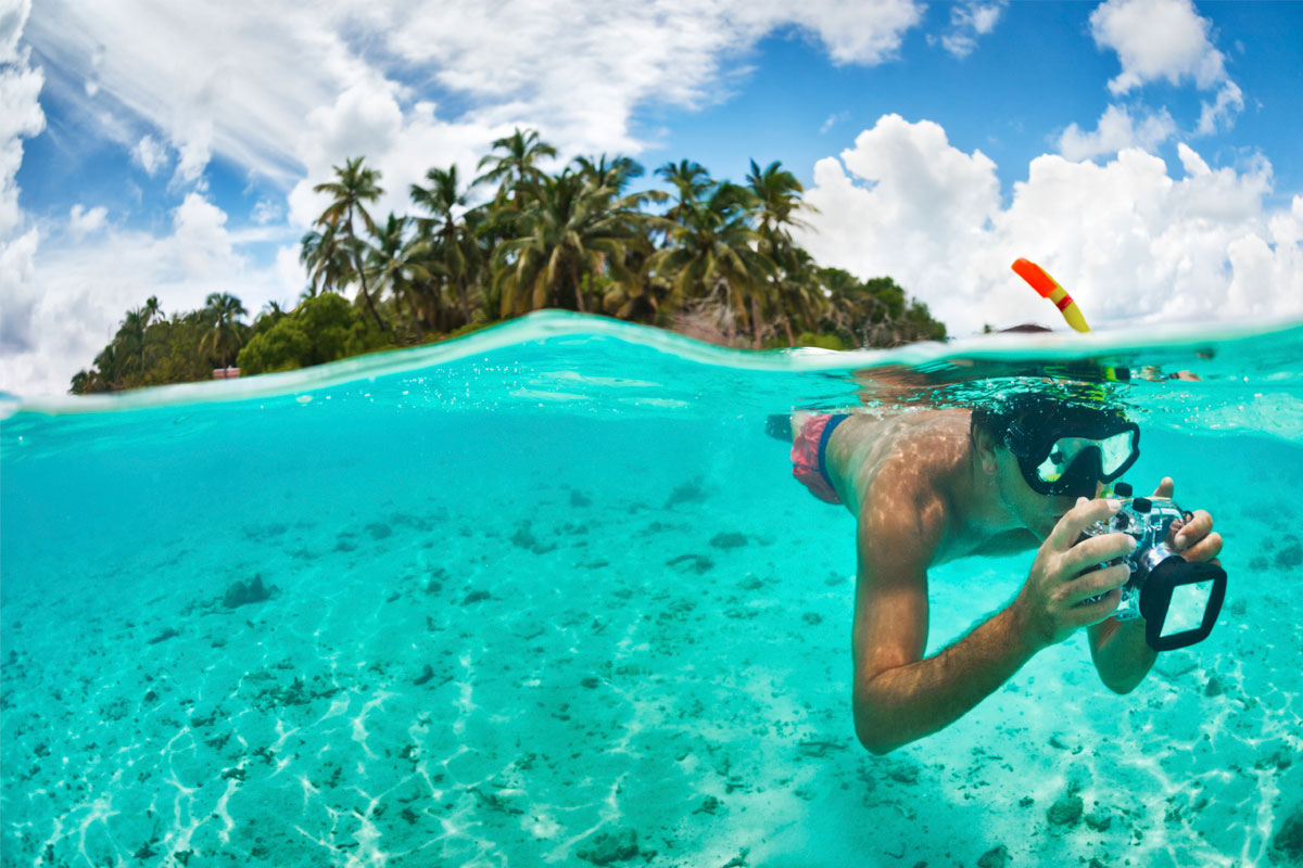
<svg viewBox="0 0 1303 868">
<path fill-rule="evenodd" d="M 1009 265 L 1042 264 L 1096 328 L 1126 321 L 1303 315 L 1303 198 L 1267 206 L 1270 165 L 1184 177 L 1139 150 L 1104 165 L 1032 160 L 1001 202 L 995 167 L 936 124 L 885 116 L 842 159 L 820 160 L 800 242 L 861 277 L 890 275 L 952 334 L 1025 320 L 1061 324 Z"/>
</svg>

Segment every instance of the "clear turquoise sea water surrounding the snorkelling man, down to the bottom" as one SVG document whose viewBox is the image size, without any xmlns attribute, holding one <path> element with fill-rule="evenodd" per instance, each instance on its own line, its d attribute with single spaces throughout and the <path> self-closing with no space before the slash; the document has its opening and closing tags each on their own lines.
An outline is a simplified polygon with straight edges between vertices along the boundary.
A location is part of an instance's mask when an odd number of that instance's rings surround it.
<svg viewBox="0 0 1303 868">
<path fill-rule="evenodd" d="M 1303 327 L 753 355 L 547 314 L 7 400 L 3 865 L 1298 861 L 1300 350 Z M 765 416 L 1101 364 L 1136 372 L 1100 387 L 1144 431 L 1128 480 L 1174 476 L 1225 536 L 1217 629 L 1126 696 L 1074 636 L 869 755 L 853 521 Z M 934 570 L 929 653 L 1031 558 Z M 271 597 L 225 605 L 254 576 Z"/>
</svg>

